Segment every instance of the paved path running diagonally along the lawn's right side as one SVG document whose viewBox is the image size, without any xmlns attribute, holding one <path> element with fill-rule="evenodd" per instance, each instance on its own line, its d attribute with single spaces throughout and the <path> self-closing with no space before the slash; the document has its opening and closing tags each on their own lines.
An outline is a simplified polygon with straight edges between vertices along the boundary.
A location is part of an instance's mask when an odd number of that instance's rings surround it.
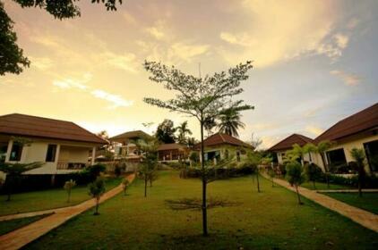
<svg viewBox="0 0 378 250">
<path fill-rule="evenodd" d="M 266 179 L 271 179 L 267 175 L 262 173 Z M 274 182 L 279 184 L 279 186 L 286 187 L 289 190 L 296 192 L 296 188 L 290 187 L 288 181 L 284 179 L 274 179 Z M 332 211 L 339 212 L 350 220 L 357 222 L 358 224 L 364 226 L 367 229 L 372 229 L 378 233 L 378 215 L 373 212 L 367 212 L 355 206 L 345 204 L 336 199 L 331 198 L 330 196 L 324 196 L 316 190 L 310 190 L 305 187 L 298 187 L 299 193 L 302 196 L 305 196 L 307 199 L 314 201 L 317 204 L 331 209 Z"/>
</svg>

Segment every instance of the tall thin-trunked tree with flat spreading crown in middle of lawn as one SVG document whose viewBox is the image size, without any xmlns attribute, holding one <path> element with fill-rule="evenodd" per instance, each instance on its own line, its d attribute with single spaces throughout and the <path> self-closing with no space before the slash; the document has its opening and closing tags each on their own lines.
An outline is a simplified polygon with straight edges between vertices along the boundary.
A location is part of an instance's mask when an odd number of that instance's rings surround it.
<svg viewBox="0 0 378 250">
<path fill-rule="evenodd" d="M 253 109 L 253 106 L 243 104 L 242 100 L 233 101 L 232 97 L 243 92 L 240 87 L 242 80 L 248 79 L 247 72 L 252 69 L 252 63 L 240 63 L 235 68 L 222 71 L 212 76 L 194 77 L 187 75 L 175 67 L 161 63 L 145 62 L 144 68 L 151 73 L 150 80 L 163 84 L 168 90 L 176 92 L 176 98 L 162 101 L 157 98 L 144 98 L 147 104 L 180 112 L 195 117 L 201 128 L 201 171 L 202 171 L 202 229 L 203 235 L 208 235 L 207 204 L 203 125 L 206 118 L 213 119 L 219 113 L 233 108 L 236 111 Z"/>
</svg>

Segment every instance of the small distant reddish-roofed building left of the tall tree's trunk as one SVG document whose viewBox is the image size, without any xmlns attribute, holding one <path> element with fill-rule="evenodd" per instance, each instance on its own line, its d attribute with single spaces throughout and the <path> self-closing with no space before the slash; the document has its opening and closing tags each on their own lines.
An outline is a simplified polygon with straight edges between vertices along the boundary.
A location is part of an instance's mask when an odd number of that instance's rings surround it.
<svg viewBox="0 0 378 250">
<path fill-rule="evenodd" d="M 189 148 L 177 143 L 161 144 L 158 147 L 159 162 L 178 162 L 186 160 L 189 154 Z"/>
</svg>

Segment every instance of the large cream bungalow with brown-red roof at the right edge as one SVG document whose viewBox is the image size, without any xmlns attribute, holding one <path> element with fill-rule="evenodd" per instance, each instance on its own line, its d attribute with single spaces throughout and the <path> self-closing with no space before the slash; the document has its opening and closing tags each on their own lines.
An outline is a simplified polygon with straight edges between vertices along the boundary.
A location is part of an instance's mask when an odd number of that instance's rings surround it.
<svg viewBox="0 0 378 250">
<path fill-rule="evenodd" d="M 326 164 L 331 168 L 352 162 L 350 150 L 357 147 L 365 150 L 365 170 L 378 172 L 378 103 L 337 122 L 316 137 L 314 142 L 322 140 L 335 142 L 325 157 Z M 322 165 L 322 161 L 319 164 Z"/>
</svg>

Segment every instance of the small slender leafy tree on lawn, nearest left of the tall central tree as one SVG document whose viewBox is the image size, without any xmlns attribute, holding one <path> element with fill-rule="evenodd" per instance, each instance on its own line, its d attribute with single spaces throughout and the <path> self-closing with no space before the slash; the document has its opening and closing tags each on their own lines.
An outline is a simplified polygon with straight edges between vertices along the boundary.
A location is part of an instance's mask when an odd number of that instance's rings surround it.
<svg viewBox="0 0 378 250">
<path fill-rule="evenodd" d="M 135 144 L 142 151 L 142 162 L 138 168 L 138 176 L 144 180 L 144 197 L 147 197 L 147 184 L 154 178 L 155 171 L 158 167 L 158 146 L 157 139 L 140 139 Z"/>
</svg>

